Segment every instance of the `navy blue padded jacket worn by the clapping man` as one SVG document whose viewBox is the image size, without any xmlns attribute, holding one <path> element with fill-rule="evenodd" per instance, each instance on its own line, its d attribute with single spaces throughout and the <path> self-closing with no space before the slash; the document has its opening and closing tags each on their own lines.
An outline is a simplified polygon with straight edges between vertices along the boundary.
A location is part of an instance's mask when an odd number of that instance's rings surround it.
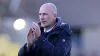
<svg viewBox="0 0 100 56">
<path fill-rule="evenodd" d="M 70 56 L 71 29 L 68 24 L 57 18 L 54 28 L 42 34 L 27 51 L 26 44 L 19 50 L 18 56 Z"/>
</svg>

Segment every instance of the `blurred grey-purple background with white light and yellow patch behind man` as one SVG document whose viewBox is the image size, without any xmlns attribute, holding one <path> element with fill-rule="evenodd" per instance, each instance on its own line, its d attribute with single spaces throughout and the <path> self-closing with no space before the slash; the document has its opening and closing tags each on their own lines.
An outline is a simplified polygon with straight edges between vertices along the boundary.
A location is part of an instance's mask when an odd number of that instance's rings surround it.
<svg viewBox="0 0 100 56">
<path fill-rule="evenodd" d="M 71 56 L 100 56 L 100 0 L 0 0 L 0 56 L 17 56 L 46 2 L 73 30 Z"/>
</svg>

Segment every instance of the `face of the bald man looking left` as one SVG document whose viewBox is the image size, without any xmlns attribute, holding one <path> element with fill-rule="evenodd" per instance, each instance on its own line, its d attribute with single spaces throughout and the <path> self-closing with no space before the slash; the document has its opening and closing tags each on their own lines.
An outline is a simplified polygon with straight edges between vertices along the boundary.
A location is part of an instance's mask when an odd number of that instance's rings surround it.
<svg viewBox="0 0 100 56">
<path fill-rule="evenodd" d="M 39 18 L 42 27 L 50 27 L 55 22 L 55 14 L 48 8 L 42 7 L 39 11 Z"/>
</svg>

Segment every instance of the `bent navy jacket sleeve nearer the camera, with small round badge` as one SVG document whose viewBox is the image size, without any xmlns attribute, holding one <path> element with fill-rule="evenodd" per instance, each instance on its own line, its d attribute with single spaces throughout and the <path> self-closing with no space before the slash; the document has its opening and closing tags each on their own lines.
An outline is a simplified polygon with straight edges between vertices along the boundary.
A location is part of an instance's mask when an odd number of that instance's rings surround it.
<svg viewBox="0 0 100 56">
<path fill-rule="evenodd" d="M 44 36 L 40 36 L 36 45 L 46 56 L 66 56 L 71 50 L 71 38 L 65 32 L 62 32 L 53 45 Z"/>
</svg>

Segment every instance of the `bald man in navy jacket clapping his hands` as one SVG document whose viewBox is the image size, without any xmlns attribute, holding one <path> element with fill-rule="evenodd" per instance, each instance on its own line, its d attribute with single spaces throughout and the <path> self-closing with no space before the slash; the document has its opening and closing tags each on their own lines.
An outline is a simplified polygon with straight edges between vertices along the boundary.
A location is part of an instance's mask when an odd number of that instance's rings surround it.
<svg viewBox="0 0 100 56">
<path fill-rule="evenodd" d="M 68 24 L 57 18 L 57 8 L 45 3 L 39 10 L 40 22 L 33 23 L 27 35 L 27 43 L 18 56 L 70 56 L 71 30 Z"/>
</svg>

